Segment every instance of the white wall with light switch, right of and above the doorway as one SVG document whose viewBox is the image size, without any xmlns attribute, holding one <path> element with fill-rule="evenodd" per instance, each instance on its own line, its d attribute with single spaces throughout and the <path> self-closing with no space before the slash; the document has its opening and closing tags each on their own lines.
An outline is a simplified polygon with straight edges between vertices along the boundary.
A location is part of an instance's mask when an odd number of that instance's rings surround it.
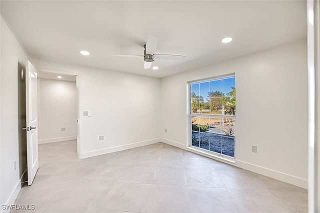
<svg viewBox="0 0 320 213">
<path fill-rule="evenodd" d="M 159 141 L 160 79 L 32 60 L 41 71 L 77 75 L 79 157 Z M 90 110 L 90 117 L 83 117 Z M 98 136 L 104 135 L 104 141 Z"/>
</svg>

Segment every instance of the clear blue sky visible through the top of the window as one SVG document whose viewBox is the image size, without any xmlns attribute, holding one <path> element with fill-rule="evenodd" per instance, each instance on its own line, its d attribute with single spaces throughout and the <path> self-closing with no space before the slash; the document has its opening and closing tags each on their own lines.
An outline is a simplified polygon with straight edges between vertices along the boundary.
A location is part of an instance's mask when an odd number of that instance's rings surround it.
<svg viewBox="0 0 320 213">
<path fill-rule="evenodd" d="M 191 92 L 194 92 L 195 95 L 200 94 L 202 97 L 207 97 L 209 91 L 221 91 L 226 94 L 232 91 L 232 86 L 235 87 L 235 77 L 192 83 Z"/>
</svg>

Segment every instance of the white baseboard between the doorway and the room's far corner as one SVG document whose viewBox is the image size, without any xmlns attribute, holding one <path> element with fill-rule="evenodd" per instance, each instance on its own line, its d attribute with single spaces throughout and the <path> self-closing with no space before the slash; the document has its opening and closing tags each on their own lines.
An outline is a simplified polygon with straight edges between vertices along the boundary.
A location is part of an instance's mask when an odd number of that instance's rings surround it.
<svg viewBox="0 0 320 213">
<path fill-rule="evenodd" d="M 139 147 L 139 146 L 143 146 L 143 145 L 149 145 L 149 144 L 160 142 L 160 141 L 161 141 L 161 138 L 155 138 L 155 139 L 151 139 L 151 140 L 144 140 L 144 141 L 140 141 L 140 142 L 134 142 L 134 143 L 129 143 L 129 144 L 125 144 L 125 145 L 103 148 L 103 149 L 98 149 L 98 150 L 94 150 L 94 151 L 88 151 L 88 152 L 82 152 L 82 153 L 78 152 L 78 158 L 82 159 L 82 158 L 86 158 L 86 157 L 107 154 L 107 153 L 111 153 L 111 152 L 115 152 L 115 151 L 122 151 L 122 150 L 126 150 L 129 148 L 135 148 L 135 147 Z"/>
</svg>

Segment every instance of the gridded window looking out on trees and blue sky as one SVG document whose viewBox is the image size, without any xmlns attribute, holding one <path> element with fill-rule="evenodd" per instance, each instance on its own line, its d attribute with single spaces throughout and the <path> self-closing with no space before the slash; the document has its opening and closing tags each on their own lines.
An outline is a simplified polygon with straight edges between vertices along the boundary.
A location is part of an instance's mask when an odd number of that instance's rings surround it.
<svg viewBox="0 0 320 213">
<path fill-rule="evenodd" d="M 190 83 L 190 145 L 234 157 L 235 77 Z"/>
</svg>

